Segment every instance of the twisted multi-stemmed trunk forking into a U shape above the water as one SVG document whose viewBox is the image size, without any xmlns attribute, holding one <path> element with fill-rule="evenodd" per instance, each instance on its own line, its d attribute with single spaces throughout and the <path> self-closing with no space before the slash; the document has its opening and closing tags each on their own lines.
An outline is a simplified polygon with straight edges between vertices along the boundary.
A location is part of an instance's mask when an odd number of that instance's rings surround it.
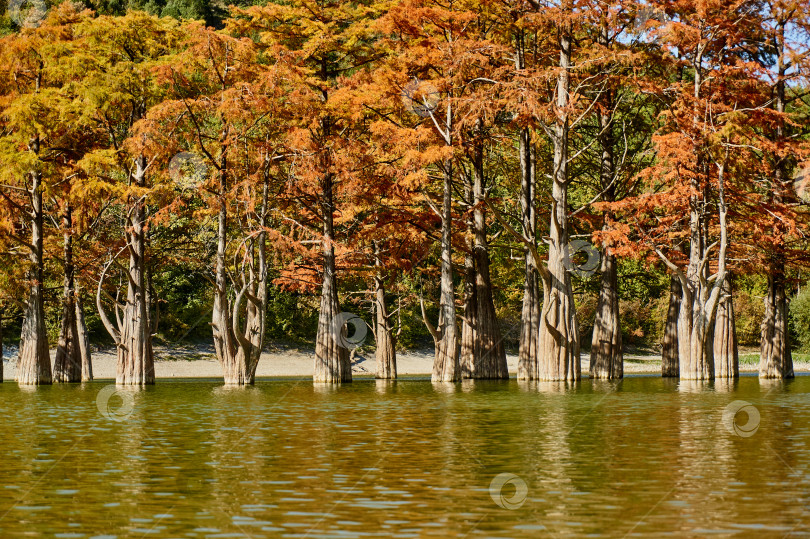
<svg viewBox="0 0 810 539">
<path fill-rule="evenodd" d="M 233 301 L 228 290 L 226 249 L 228 241 L 228 161 L 223 154 L 220 168 L 219 218 L 217 231 L 216 290 L 212 328 L 214 349 L 222 367 L 226 385 L 250 385 L 255 382 L 261 358 L 267 308 L 267 262 L 265 232 L 268 202 L 268 176 L 264 171 L 259 232 L 245 242 L 246 268 L 238 272 L 239 289 Z M 244 310 L 242 305 L 244 304 Z M 244 324 L 244 328 L 242 328 Z"/>
</svg>

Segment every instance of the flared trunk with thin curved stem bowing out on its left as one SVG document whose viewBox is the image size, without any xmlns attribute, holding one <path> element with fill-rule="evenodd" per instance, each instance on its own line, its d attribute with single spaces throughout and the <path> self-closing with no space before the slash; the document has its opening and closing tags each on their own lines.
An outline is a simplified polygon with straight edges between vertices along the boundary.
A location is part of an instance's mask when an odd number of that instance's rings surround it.
<svg viewBox="0 0 810 539">
<path fill-rule="evenodd" d="M 146 157 L 135 159 L 135 171 L 131 184 L 146 188 Z M 126 268 L 127 296 L 122 306 L 114 301 L 117 324 L 113 325 L 101 302 L 102 284 L 113 258 L 102 271 L 96 292 L 96 307 L 107 332 L 115 340 L 118 349 L 115 383 L 118 385 L 147 385 L 155 383 L 155 364 L 152 352 L 152 327 L 149 318 L 148 294 L 145 282 L 146 258 L 146 202 L 145 195 L 133 195 L 128 204 L 126 223 L 126 251 L 129 266 Z"/>
</svg>

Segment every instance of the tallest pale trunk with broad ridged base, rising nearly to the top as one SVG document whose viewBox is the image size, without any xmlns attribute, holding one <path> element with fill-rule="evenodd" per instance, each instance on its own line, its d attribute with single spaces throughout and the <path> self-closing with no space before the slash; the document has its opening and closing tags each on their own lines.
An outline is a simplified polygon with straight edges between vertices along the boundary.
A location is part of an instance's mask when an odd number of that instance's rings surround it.
<svg viewBox="0 0 810 539">
<path fill-rule="evenodd" d="M 568 108 L 571 69 L 571 29 L 565 23 L 560 33 L 560 73 L 557 77 L 557 109 Z M 562 113 L 561 113 L 562 114 Z M 551 188 L 548 269 L 543 278 L 543 308 L 540 313 L 541 380 L 580 379 L 580 349 L 577 313 L 571 286 L 568 249 L 568 130 L 567 118 L 553 126 L 554 174 Z"/>
</svg>

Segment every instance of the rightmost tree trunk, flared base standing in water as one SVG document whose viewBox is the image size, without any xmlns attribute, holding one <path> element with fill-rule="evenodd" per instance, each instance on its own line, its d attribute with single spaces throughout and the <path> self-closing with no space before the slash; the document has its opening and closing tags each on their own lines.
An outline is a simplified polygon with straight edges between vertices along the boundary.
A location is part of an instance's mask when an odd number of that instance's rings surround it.
<svg viewBox="0 0 810 539">
<path fill-rule="evenodd" d="M 788 299 L 781 269 L 771 267 L 765 316 L 762 320 L 759 377 L 793 378 L 793 356 L 788 334 Z"/>
</svg>

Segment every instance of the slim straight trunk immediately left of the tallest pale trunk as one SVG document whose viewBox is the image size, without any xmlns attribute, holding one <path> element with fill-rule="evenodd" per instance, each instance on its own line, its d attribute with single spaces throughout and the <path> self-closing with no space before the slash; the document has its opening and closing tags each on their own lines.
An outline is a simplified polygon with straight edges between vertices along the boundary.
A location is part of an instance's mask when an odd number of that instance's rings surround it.
<svg viewBox="0 0 810 539">
<path fill-rule="evenodd" d="M 528 128 L 520 131 L 520 207 L 523 236 L 535 245 L 537 213 L 534 208 L 536 152 Z M 540 283 L 537 264 L 531 249 L 524 253 L 523 303 L 520 311 L 520 348 L 518 351 L 518 380 L 533 380 L 539 372 L 538 337 L 540 333 Z"/>
</svg>

